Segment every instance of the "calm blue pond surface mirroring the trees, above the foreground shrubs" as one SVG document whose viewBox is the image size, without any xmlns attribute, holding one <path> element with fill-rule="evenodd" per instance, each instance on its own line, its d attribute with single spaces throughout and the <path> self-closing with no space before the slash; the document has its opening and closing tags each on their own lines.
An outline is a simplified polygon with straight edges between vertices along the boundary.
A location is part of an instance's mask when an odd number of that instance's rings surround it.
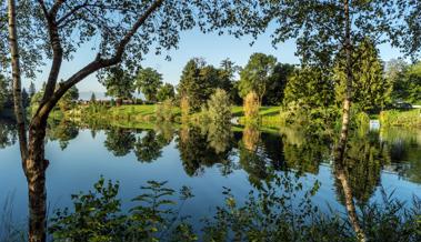
<svg viewBox="0 0 421 242">
<path fill-rule="evenodd" d="M 0 208 L 12 201 L 12 218 L 24 223 L 28 190 L 13 124 L 0 122 Z M 88 191 L 100 175 L 120 181 L 123 206 L 148 180 L 188 185 L 194 198 L 183 213 L 199 219 L 223 203 L 223 186 L 245 198 L 273 173 L 299 174 L 310 188 L 320 182 L 313 202 L 344 212 L 335 178 L 332 142 L 300 130 L 225 129 L 144 124 L 144 129 L 92 128 L 52 122 L 48 131 L 47 190 L 49 213 L 70 206 L 70 194 Z M 358 204 L 381 201 L 381 188 L 411 203 L 421 196 L 421 131 L 402 128 L 355 132 L 350 139 L 345 173 Z M 4 212 L 4 211 L 3 211 Z"/>
</svg>

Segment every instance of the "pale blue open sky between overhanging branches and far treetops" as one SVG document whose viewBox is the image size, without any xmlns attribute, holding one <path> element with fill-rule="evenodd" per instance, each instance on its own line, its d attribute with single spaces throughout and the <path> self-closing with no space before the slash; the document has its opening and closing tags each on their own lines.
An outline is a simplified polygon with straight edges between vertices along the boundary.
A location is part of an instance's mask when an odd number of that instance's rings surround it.
<svg viewBox="0 0 421 242">
<path fill-rule="evenodd" d="M 269 30 L 270 31 L 270 30 Z M 201 33 L 198 29 L 186 31 L 180 34 L 179 48 L 169 52 L 163 52 L 161 56 L 156 56 L 153 51 L 144 57 L 144 60 L 139 63 L 143 68 L 150 67 L 162 73 L 163 82 L 178 84 L 181 71 L 184 64 L 194 57 L 204 58 L 207 63 L 219 65 L 221 60 L 230 58 L 238 65 L 245 65 L 249 57 L 254 52 L 263 52 L 274 56 L 279 62 L 299 63 L 299 58 L 294 56 L 297 46 L 294 40 L 289 40 L 284 43 L 277 44 L 273 48 L 271 43 L 270 32 L 258 38 L 253 46 L 250 46 L 252 39 L 243 37 L 235 39 L 232 36 L 218 36 L 215 33 Z M 379 47 L 380 56 L 383 61 L 400 57 L 400 52 L 392 49 L 389 44 Z M 166 60 L 166 54 L 171 57 L 171 60 Z M 64 61 L 60 71 L 59 79 L 67 79 L 84 64 L 94 59 L 96 52 L 87 44 L 76 52 L 72 60 Z M 47 64 L 33 81 L 37 90 L 41 83 L 47 80 L 50 65 Z M 23 80 L 23 87 L 29 87 L 31 80 Z M 80 92 L 106 92 L 96 74 L 88 77 L 78 85 Z"/>
</svg>

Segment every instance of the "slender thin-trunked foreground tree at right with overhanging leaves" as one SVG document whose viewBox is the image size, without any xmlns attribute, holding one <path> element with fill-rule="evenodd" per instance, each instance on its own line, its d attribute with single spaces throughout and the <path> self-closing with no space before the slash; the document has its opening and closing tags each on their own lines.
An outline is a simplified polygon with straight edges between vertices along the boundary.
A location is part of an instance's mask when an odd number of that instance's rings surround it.
<svg viewBox="0 0 421 242">
<path fill-rule="evenodd" d="M 335 149 L 335 160 L 343 161 L 348 140 L 352 98 L 354 44 L 364 39 L 374 46 L 391 42 L 407 53 L 421 50 L 419 40 L 419 3 L 417 1 L 262 1 L 253 11 L 253 22 L 243 31 L 263 32 L 275 20 L 272 43 L 297 40 L 298 51 L 305 64 L 321 68 L 332 65 L 341 52 L 344 57 L 345 91 L 342 129 Z"/>
</svg>

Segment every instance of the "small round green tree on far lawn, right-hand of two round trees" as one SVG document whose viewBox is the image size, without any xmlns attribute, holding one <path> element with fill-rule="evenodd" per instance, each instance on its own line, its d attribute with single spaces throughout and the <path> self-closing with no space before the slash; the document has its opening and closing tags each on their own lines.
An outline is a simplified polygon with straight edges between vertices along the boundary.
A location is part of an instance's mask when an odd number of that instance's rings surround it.
<svg viewBox="0 0 421 242">
<path fill-rule="evenodd" d="M 136 78 L 136 88 L 148 101 L 156 102 L 158 89 L 162 84 L 162 74 L 152 68 L 140 69 Z"/>
</svg>

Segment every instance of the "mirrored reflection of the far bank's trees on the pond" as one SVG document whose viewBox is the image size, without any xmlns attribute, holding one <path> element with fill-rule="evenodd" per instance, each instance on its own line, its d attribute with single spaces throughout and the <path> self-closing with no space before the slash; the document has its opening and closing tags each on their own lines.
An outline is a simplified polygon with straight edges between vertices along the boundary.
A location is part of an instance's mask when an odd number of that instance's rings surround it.
<svg viewBox="0 0 421 242">
<path fill-rule="evenodd" d="M 87 125 L 63 120 L 50 121 L 47 137 L 49 141 L 58 141 L 64 150 L 82 127 Z M 154 162 L 164 154 L 166 147 L 173 145 L 188 175 L 201 175 L 211 167 L 218 167 L 224 177 L 241 170 L 258 191 L 268 189 L 269 184 L 280 186 L 277 183 L 280 174 L 319 174 L 321 164 L 328 164 L 334 178 L 337 200 L 347 210 L 348 220 L 353 231 L 361 234 L 360 239 L 369 236 L 363 232 L 367 224 L 361 222 L 360 208 L 370 204 L 370 199 L 381 185 L 382 171 L 395 172 L 411 182 L 421 183 L 419 132 L 358 130 L 350 135 L 343 161 L 335 161 L 333 139 L 329 137 L 288 128 L 280 133 L 262 132 L 253 123 L 235 128 L 212 123 L 183 123 L 179 128 L 158 123 L 144 129 L 94 125 L 90 131 L 93 139 L 104 135 L 103 147 L 114 157 L 132 153 L 134 161 Z M 0 122 L 0 149 L 12 145 L 16 139 L 13 124 Z M 29 168 L 27 172 L 33 171 Z M 46 182 L 44 178 L 41 181 Z M 43 185 L 42 182 L 28 182 L 29 186 Z M 32 199 L 30 203 L 47 202 L 43 195 L 32 198 L 37 200 Z M 30 215 L 41 216 L 41 213 Z"/>
</svg>

